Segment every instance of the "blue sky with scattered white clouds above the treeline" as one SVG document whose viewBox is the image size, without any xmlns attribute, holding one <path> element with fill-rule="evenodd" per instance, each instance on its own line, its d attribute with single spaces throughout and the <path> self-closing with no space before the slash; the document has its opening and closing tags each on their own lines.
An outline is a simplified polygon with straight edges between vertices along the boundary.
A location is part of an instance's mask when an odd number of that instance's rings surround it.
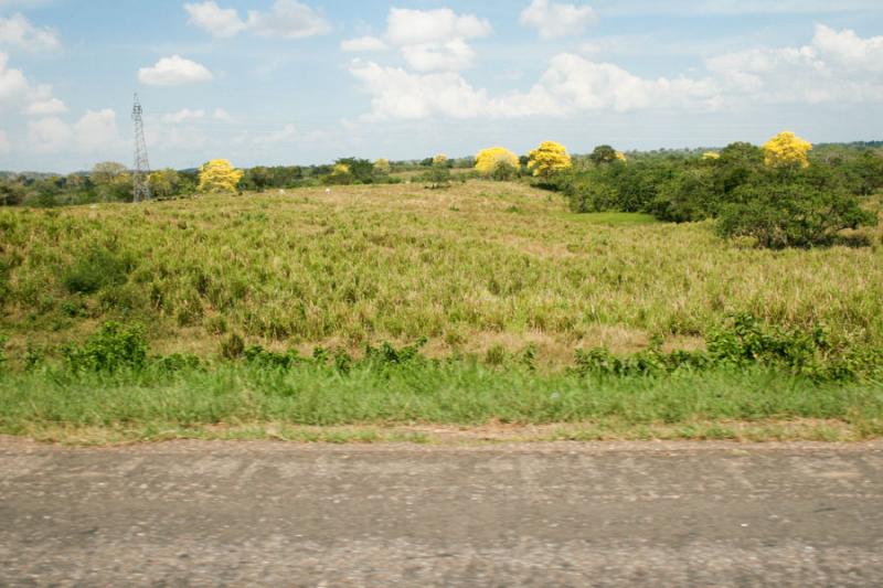
<svg viewBox="0 0 883 588">
<path fill-rule="evenodd" d="M 0 0 L 0 170 L 883 138 L 880 0 Z"/>
</svg>

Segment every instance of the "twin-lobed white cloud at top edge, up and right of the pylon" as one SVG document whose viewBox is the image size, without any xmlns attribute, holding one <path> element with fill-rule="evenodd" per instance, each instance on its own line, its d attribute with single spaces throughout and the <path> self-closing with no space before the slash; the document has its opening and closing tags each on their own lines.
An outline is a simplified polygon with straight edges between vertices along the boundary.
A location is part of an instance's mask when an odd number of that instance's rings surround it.
<svg viewBox="0 0 883 588">
<path fill-rule="evenodd" d="M 251 31 L 260 36 L 302 39 L 331 31 L 328 21 L 296 0 L 276 0 L 266 12 L 249 10 L 245 20 L 235 8 L 221 8 L 213 0 L 184 4 L 184 10 L 193 25 L 217 38 Z"/>
</svg>

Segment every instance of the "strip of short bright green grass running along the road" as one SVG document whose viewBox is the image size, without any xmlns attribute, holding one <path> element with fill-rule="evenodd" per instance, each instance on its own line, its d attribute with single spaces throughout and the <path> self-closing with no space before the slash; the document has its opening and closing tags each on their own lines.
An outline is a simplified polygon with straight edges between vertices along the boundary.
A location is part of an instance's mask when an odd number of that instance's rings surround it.
<svg viewBox="0 0 883 588">
<path fill-rule="evenodd" d="M 242 435 L 254 424 L 358 426 L 360 435 L 371 427 L 417 424 L 575 424 L 583 428 L 571 429 L 573 438 L 592 430 L 614 438 L 652 437 L 655 430 L 708 438 L 715 427 L 730 430 L 733 423 L 757 429 L 808 419 L 821 428 L 839 426 L 853 438 L 879 436 L 883 384 L 829 385 L 763 370 L 593 378 L 470 361 L 360 366 L 349 374 L 315 365 L 272 370 L 231 363 L 171 375 L 49 370 L 0 376 L 0 434 L 35 437 L 60 430 L 128 431 L 129 438 L 162 430 Z M 226 428 L 213 429 L 219 425 Z"/>
</svg>

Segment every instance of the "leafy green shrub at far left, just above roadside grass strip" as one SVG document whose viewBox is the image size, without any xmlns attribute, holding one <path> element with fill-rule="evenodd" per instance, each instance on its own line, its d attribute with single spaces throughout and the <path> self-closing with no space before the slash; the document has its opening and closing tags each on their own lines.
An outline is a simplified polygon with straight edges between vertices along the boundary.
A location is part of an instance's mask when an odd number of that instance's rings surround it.
<svg viewBox="0 0 883 588">
<path fill-rule="evenodd" d="M 141 327 L 109 321 L 83 345 L 68 345 L 64 350 L 64 359 L 67 366 L 75 371 L 140 370 L 147 363 L 147 339 Z"/>
</svg>

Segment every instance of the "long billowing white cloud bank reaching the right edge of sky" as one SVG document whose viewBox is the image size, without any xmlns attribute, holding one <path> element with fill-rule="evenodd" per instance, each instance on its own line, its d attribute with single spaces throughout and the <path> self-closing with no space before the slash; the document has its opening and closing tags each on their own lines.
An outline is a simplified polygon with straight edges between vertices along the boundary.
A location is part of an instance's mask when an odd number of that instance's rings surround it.
<svg viewBox="0 0 883 588">
<path fill-rule="evenodd" d="M 416 68 L 416 67 L 415 67 Z M 552 57 L 526 92 L 490 96 L 460 74 L 419 74 L 354 61 L 373 119 L 514 118 L 581 111 L 720 110 L 749 104 L 883 100 L 883 36 L 819 25 L 802 47 L 754 49 L 706 60 L 706 72 L 647 78 L 571 53 Z"/>
</svg>

